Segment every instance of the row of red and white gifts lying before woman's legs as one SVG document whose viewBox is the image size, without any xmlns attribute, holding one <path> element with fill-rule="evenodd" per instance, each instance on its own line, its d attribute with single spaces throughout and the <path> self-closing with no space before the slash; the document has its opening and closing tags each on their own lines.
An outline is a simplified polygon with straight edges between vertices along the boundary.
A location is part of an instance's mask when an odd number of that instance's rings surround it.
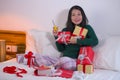
<svg viewBox="0 0 120 80">
<path fill-rule="evenodd" d="M 85 74 L 79 71 L 65 70 L 65 69 L 55 69 L 54 66 L 41 65 L 37 67 L 34 71 L 36 76 L 48 76 L 48 77 L 62 77 L 62 78 L 72 78 L 73 80 L 84 80 Z"/>
</svg>

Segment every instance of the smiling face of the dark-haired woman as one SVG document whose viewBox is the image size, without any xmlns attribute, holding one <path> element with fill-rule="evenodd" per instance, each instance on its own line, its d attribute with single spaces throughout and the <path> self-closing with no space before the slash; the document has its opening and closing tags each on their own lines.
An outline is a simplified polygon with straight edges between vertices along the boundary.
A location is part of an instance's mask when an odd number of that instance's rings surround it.
<svg viewBox="0 0 120 80">
<path fill-rule="evenodd" d="M 82 22 L 82 14 L 81 11 L 77 10 L 77 9 L 73 9 L 72 10 L 72 14 L 71 14 L 71 21 L 75 24 L 78 25 Z"/>
</svg>

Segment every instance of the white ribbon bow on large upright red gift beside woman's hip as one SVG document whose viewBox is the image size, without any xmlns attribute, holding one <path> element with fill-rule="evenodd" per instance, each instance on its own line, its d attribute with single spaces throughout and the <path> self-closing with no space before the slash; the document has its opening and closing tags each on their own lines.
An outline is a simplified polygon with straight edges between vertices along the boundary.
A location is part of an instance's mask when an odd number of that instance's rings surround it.
<svg viewBox="0 0 120 80">
<path fill-rule="evenodd" d="M 87 50 L 86 50 L 86 48 L 83 47 L 83 48 L 82 48 L 82 54 L 80 54 L 80 55 L 78 56 L 78 59 L 80 59 L 80 64 L 82 64 L 82 62 L 83 62 L 83 60 L 84 60 L 85 58 L 90 62 L 90 64 L 92 64 L 92 61 L 91 61 L 90 58 L 87 56 Z"/>
</svg>

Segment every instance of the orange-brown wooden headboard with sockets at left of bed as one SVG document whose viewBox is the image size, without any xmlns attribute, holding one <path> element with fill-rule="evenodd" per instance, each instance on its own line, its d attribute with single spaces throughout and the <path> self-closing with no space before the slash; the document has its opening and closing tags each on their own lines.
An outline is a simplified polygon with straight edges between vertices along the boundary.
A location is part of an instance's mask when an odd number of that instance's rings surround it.
<svg viewBox="0 0 120 80">
<path fill-rule="evenodd" d="M 16 57 L 16 53 L 25 52 L 26 33 L 24 31 L 0 30 L 0 40 L 5 40 L 6 55 Z M 17 51 L 10 51 L 11 46 L 16 46 Z"/>
</svg>

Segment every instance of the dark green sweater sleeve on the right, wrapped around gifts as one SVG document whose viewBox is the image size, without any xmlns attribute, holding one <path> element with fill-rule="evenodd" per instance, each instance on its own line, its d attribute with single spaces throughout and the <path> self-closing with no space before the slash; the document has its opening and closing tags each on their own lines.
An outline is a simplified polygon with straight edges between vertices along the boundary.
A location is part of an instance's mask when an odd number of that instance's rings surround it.
<svg viewBox="0 0 120 80">
<path fill-rule="evenodd" d="M 77 39 L 77 44 L 82 46 L 95 46 L 98 44 L 98 38 L 90 25 L 86 27 L 88 29 L 88 33 L 85 39 Z"/>
</svg>

